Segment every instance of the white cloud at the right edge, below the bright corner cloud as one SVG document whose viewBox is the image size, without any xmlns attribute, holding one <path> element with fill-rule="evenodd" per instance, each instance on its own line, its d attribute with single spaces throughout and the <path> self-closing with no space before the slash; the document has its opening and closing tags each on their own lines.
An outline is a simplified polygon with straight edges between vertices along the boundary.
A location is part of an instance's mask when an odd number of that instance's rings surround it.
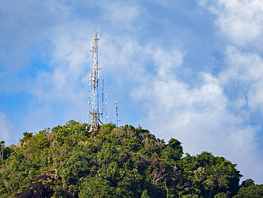
<svg viewBox="0 0 263 198">
<path fill-rule="evenodd" d="M 228 68 L 220 73 L 220 81 L 225 87 L 237 87 L 237 95 L 247 98 L 243 106 L 249 106 L 251 113 L 263 115 L 263 60 L 255 53 L 242 53 L 234 46 L 227 46 Z M 239 97 L 238 97 L 239 98 Z M 244 103 L 245 102 L 245 103 Z"/>
</svg>

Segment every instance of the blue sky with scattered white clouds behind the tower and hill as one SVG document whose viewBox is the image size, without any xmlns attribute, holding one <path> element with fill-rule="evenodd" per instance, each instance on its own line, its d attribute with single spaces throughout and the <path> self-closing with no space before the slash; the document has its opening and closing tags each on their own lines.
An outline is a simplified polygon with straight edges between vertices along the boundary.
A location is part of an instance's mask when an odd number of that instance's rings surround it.
<svg viewBox="0 0 263 198">
<path fill-rule="evenodd" d="M 260 0 L 3 0 L 0 139 L 87 123 L 100 26 L 109 121 L 117 100 L 119 125 L 226 157 L 263 183 L 262 11 Z"/>
</svg>

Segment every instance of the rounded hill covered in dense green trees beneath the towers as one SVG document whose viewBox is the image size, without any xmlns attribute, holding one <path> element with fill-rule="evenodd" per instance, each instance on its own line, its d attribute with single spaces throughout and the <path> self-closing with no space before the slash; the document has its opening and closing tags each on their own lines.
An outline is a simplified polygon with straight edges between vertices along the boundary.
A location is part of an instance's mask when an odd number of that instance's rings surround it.
<svg viewBox="0 0 263 198">
<path fill-rule="evenodd" d="M 0 197 L 263 197 L 224 157 L 183 157 L 181 142 L 141 127 L 89 127 L 70 120 L 4 147 Z"/>
</svg>

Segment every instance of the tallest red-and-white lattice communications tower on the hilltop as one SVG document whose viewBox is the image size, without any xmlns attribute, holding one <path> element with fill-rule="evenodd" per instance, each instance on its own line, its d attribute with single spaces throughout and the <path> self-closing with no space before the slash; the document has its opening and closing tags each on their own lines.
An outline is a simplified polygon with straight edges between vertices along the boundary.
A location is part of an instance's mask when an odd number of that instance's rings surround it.
<svg viewBox="0 0 263 198">
<path fill-rule="evenodd" d="M 98 55 L 99 47 L 99 31 L 95 33 L 92 49 L 92 64 L 90 71 L 90 100 L 89 104 L 89 123 L 92 125 L 91 130 L 97 130 L 99 127 L 100 113 L 99 113 L 99 79 L 100 79 L 100 61 Z M 101 121 L 100 121 L 101 122 Z"/>
</svg>

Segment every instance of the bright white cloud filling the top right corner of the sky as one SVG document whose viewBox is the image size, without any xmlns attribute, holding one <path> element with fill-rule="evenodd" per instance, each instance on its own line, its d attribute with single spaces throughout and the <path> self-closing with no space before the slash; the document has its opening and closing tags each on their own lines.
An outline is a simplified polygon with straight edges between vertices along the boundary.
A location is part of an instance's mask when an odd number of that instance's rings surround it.
<svg viewBox="0 0 263 198">
<path fill-rule="evenodd" d="M 215 22 L 223 36 L 238 45 L 246 46 L 251 42 L 260 46 L 263 30 L 263 2 L 260 0 L 220 0 L 200 1 L 203 6 L 218 16 Z"/>
</svg>

